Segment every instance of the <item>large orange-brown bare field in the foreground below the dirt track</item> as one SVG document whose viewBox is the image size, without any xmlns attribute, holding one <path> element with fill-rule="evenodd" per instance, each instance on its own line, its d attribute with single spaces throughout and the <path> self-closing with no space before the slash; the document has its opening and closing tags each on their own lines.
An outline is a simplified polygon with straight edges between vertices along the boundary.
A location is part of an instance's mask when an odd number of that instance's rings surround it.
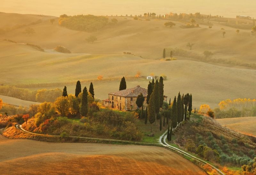
<svg viewBox="0 0 256 175">
<path fill-rule="evenodd" d="M 205 174 L 155 146 L 48 143 L 0 135 L 1 174 Z"/>
</svg>

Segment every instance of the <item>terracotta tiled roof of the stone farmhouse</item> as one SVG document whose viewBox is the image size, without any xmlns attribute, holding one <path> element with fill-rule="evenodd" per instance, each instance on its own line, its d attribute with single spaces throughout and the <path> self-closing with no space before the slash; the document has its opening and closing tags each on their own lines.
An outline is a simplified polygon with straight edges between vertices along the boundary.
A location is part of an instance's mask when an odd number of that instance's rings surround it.
<svg viewBox="0 0 256 175">
<path fill-rule="evenodd" d="M 140 95 L 140 93 L 143 94 L 144 97 L 147 97 L 148 90 L 145 88 L 140 88 L 140 86 L 130 88 L 130 89 L 124 89 L 118 92 L 111 92 L 109 95 L 117 95 L 122 97 L 137 97 Z"/>
</svg>

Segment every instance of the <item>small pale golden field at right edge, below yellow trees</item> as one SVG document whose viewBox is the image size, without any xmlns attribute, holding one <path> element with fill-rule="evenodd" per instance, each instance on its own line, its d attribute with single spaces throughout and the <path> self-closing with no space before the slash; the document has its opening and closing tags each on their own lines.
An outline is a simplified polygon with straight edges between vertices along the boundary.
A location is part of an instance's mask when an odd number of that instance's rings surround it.
<svg viewBox="0 0 256 175">
<path fill-rule="evenodd" d="M 220 125 L 229 129 L 256 137 L 256 117 L 221 118 L 216 120 Z"/>
</svg>

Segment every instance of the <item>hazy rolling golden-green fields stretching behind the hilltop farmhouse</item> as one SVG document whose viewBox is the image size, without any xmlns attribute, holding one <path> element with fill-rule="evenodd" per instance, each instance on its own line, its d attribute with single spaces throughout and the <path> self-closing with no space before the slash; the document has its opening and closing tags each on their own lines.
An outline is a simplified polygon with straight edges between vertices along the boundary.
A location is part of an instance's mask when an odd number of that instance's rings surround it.
<svg viewBox="0 0 256 175">
<path fill-rule="evenodd" d="M 167 80 L 164 82 L 164 94 L 173 99 L 179 91 L 192 93 L 196 108 L 204 103 L 214 108 L 227 98 L 254 98 L 256 70 L 221 63 L 207 64 L 185 57 L 177 57 L 176 61 L 160 61 L 164 48 L 177 47 L 190 51 L 186 44 L 192 42 L 195 45 L 191 52 L 195 54 L 203 55 L 204 50 L 209 50 L 214 53 L 213 58 L 255 63 L 253 43 L 256 38 L 249 36 L 250 30 L 240 30 L 236 34 L 235 28 L 215 21 L 211 21 L 214 23 L 211 29 L 208 26 L 182 29 L 180 26 L 184 23 L 177 21 L 174 21 L 175 27 L 169 28 L 164 27 L 166 20 L 145 21 L 116 17 L 118 23 L 115 26 L 88 33 L 60 27 L 57 18 L 52 25 L 49 22 L 51 18 L 0 13 L 0 28 L 42 20 L 39 24 L 29 26 L 36 31 L 31 36 L 22 34 L 26 27 L 0 35 L 0 40 L 18 42 L 0 42 L 0 61 L 4 65 L 0 72 L 0 83 L 60 83 L 58 88 L 67 85 L 68 93 L 74 93 L 77 80 L 89 81 L 82 83 L 82 86 L 89 86 L 92 80 L 95 96 L 105 99 L 109 92 L 118 90 L 119 78 L 134 77 L 140 71 L 143 78 L 127 80 L 127 88 L 137 85 L 147 88 L 148 80 L 145 77 L 151 72 L 157 76 L 165 74 Z M 109 20 L 112 18 L 109 17 Z M 227 33 L 225 38 L 221 27 Z M 98 38 L 93 44 L 85 41 L 90 35 Z M 45 52 L 20 43 L 38 44 Z M 72 54 L 52 51 L 57 45 L 67 47 Z M 124 55 L 123 52 L 131 52 L 136 56 Z M 169 57 L 169 53 L 166 56 Z M 97 81 L 98 75 L 103 76 L 103 81 Z M 72 82 L 73 85 L 70 84 Z M 41 88 L 44 86 L 37 89 Z"/>
</svg>

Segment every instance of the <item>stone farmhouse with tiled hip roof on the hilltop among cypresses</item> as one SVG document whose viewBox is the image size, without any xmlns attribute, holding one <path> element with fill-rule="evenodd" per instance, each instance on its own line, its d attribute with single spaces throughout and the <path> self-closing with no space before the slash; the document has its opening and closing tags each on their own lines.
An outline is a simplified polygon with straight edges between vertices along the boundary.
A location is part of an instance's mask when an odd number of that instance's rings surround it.
<svg viewBox="0 0 256 175">
<path fill-rule="evenodd" d="M 136 100 L 140 93 L 142 93 L 143 97 L 145 98 L 143 106 L 144 109 L 146 109 L 148 90 L 141 88 L 140 86 L 117 92 L 111 92 L 108 94 L 108 99 L 102 100 L 102 103 L 105 107 L 114 108 L 117 110 L 136 110 L 138 109 Z M 164 102 L 167 102 L 167 96 L 165 95 Z"/>
</svg>

